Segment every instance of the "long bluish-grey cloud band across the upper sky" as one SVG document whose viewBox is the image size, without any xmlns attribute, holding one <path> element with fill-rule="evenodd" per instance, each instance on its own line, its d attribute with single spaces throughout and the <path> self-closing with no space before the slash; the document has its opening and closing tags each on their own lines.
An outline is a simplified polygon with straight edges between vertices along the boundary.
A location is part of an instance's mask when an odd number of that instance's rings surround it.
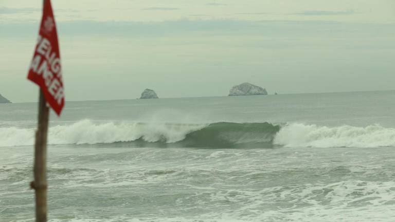
<svg viewBox="0 0 395 222">
<path fill-rule="evenodd" d="M 310 39 L 328 38 L 341 34 L 342 38 L 374 35 L 393 36 L 393 24 L 359 24 L 325 21 L 242 21 L 242 20 L 177 20 L 163 22 L 95 22 L 69 21 L 58 22 L 60 36 L 111 36 L 112 38 L 155 38 L 167 36 L 196 36 L 196 33 L 210 36 L 249 35 L 259 38 L 278 40 L 292 38 L 290 43 L 309 36 Z M 0 23 L 2 38 L 34 39 L 39 27 L 35 22 Z M 331 32 L 328 32 L 331 30 Z M 264 42 L 262 43 L 264 44 Z M 285 44 L 284 44 L 285 45 Z"/>
</svg>

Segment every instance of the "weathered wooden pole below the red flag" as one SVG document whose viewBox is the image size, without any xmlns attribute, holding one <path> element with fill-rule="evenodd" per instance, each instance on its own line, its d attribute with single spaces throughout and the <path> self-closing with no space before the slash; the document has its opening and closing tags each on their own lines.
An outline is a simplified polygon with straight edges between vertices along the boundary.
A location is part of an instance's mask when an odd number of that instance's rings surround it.
<svg viewBox="0 0 395 222">
<path fill-rule="evenodd" d="M 47 221 L 47 132 L 49 108 L 40 89 L 39 122 L 35 132 L 34 181 L 30 186 L 35 190 L 35 221 Z"/>
</svg>

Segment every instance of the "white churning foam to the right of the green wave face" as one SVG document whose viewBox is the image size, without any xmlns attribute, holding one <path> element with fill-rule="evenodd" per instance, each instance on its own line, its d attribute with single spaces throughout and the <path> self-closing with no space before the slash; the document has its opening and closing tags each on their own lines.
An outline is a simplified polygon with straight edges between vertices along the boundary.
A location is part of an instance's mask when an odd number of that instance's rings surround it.
<svg viewBox="0 0 395 222">
<path fill-rule="evenodd" d="M 287 147 L 380 147 L 395 145 L 395 128 L 379 125 L 327 127 L 288 124 L 277 133 L 274 144 Z"/>
</svg>

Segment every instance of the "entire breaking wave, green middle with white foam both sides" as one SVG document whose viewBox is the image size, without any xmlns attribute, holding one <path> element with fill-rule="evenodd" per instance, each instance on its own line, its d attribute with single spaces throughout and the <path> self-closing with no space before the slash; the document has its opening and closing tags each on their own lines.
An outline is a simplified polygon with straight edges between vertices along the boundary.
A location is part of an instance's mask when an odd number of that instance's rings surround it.
<svg viewBox="0 0 395 222">
<path fill-rule="evenodd" d="M 81 120 L 49 128 L 48 144 L 146 147 L 380 147 L 395 146 L 395 128 L 290 123 L 95 123 Z M 34 129 L 0 127 L 0 146 L 33 145 Z"/>
</svg>

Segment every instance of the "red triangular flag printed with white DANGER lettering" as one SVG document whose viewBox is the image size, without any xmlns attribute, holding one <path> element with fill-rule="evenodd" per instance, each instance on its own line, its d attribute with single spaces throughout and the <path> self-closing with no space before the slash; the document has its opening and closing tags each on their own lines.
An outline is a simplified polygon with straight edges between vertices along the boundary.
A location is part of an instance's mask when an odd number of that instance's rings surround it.
<svg viewBox="0 0 395 222">
<path fill-rule="evenodd" d="M 45 100 L 60 116 L 64 106 L 62 66 L 50 0 L 44 1 L 39 38 L 27 78 L 41 87 Z"/>
</svg>

